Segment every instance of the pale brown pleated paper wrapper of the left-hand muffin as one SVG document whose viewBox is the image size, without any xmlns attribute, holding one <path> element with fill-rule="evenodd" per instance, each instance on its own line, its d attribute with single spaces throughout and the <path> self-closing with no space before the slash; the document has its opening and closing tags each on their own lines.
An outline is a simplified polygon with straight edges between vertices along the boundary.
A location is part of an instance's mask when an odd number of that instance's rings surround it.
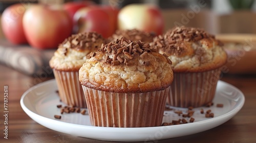
<svg viewBox="0 0 256 143">
<path fill-rule="evenodd" d="M 53 69 L 60 100 L 69 105 L 87 108 L 86 99 L 78 78 L 78 71 L 60 71 Z"/>
</svg>

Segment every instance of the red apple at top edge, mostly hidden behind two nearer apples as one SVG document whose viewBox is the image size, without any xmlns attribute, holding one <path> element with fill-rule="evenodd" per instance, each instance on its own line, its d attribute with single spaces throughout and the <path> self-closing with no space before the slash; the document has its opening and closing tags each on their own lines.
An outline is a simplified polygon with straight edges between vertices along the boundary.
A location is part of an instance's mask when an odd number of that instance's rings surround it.
<svg viewBox="0 0 256 143">
<path fill-rule="evenodd" d="M 63 4 L 63 9 L 65 9 L 69 13 L 71 19 L 73 19 L 74 14 L 76 13 L 77 10 L 79 10 L 80 8 L 88 7 L 95 4 L 96 3 L 94 3 L 93 1 L 68 2 Z"/>
</svg>

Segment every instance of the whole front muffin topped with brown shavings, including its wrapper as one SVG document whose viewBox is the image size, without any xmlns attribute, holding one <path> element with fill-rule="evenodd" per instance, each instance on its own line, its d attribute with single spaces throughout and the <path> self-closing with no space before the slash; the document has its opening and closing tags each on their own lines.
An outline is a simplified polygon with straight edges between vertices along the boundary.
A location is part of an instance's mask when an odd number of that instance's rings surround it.
<svg viewBox="0 0 256 143">
<path fill-rule="evenodd" d="M 123 38 L 91 53 L 79 69 L 91 124 L 160 126 L 173 81 L 170 63 L 150 44 Z"/>
</svg>

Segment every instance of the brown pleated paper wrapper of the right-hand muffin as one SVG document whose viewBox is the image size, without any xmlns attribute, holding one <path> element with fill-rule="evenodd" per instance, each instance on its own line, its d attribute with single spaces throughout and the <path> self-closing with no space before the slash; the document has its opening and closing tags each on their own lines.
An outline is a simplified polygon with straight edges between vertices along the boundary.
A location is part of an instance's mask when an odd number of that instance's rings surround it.
<svg viewBox="0 0 256 143">
<path fill-rule="evenodd" d="M 220 69 L 201 73 L 174 73 L 167 104 L 175 107 L 200 107 L 214 99 Z"/>
</svg>

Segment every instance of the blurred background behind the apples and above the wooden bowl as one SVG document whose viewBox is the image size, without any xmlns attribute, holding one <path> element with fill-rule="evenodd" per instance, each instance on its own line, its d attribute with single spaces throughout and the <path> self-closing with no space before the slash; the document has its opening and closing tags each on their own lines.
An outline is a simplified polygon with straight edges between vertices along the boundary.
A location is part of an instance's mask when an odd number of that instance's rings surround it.
<svg viewBox="0 0 256 143">
<path fill-rule="evenodd" d="M 67 3 L 71 1 L 0 0 L 0 13 L 15 3 Z M 256 3 L 254 0 L 94 0 L 94 2 L 100 5 L 115 5 L 119 8 L 133 3 L 155 4 L 159 6 L 164 16 L 164 30 L 174 27 L 176 21 L 185 26 L 204 28 L 212 34 L 256 33 L 256 27 L 254 27 L 256 25 Z M 196 9 L 199 3 L 204 3 L 200 10 Z M 194 13 L 189 13 L 189 11 Z M 188 19 L 185 23 L 182 23 L 183 15 Z M 0 37 L 3 36 L 0 30 Z"/>
</svg>

